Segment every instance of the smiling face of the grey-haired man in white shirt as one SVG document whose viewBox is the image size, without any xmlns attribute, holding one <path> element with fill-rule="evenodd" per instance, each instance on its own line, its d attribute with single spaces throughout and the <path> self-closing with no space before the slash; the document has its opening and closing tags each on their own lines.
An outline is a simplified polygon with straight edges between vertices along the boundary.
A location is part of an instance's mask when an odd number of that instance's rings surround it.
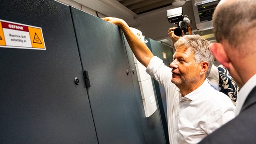
<svg viewBox="0 0 256 144">
<path fill-rule="evenodd" d="M 180 46 L 174 53 L 172 67 L 172 83 L 178 88 L 197 84 L 200 79 L 201 64 L 196 64 L 191 48 Z"/>
</svg>

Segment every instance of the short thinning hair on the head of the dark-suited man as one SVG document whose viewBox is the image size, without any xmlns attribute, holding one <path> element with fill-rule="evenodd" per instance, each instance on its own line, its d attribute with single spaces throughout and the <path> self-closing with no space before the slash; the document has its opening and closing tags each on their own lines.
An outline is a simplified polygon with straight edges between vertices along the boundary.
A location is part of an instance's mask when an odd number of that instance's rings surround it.
<svg viewBox="0 0 256 144">
<path fill-rule="evenodd" d="M 227 40 L 236 47 L 256 28 L 256 0 L 221 0 L 212 22 L 216 40 Z"/>
</svg>

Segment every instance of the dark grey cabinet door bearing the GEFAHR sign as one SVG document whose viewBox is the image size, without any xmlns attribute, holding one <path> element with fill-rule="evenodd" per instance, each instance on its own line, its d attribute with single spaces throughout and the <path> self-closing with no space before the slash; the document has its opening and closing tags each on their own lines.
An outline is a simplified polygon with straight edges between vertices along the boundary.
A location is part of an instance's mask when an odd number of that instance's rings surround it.
<svg viewBox="0 0 256 144">
<path fill-rule="evenodd" d="M 46 47 L 0 45 L 0 143 L 97 144 L 69 6 L 54 0 L 2 0 L 0 9 L 1 20 L 41 27 L 43 39 L 34 33 L 40 41 L 32 43 Z M 23 40 L 23 33 L 14 39 Z"/>
</svg>

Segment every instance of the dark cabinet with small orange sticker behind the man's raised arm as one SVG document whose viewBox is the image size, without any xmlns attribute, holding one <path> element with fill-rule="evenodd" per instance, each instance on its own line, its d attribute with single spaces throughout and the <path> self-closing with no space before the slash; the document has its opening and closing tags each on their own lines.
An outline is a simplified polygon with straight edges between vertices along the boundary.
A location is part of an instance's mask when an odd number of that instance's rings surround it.
<svg viewBox="0 0 256 144">
<path fill-rule="evenodd" d="M 173 54 L 174 49 L 169 45 L 161 44 L 152 39 L 146 39 L 148 42 L 146 45 L 151 50 L 151 52 L 161 58 L 163 63 L 169 67 L 169 64 L 173 61 Z M 163 86 L 159 85 L 159 83 L 153 80 L 156 99 L 159 107 L 160 117 L 162 120 L 162 125 L 165 131 L 165 138 L 169 139 L 168 137 L 168 127 L 167 127 L 167 108 L 166 108 L 166 93 Z M 169 141 L 168 141 L 169 143 Z"/>
</svg>

